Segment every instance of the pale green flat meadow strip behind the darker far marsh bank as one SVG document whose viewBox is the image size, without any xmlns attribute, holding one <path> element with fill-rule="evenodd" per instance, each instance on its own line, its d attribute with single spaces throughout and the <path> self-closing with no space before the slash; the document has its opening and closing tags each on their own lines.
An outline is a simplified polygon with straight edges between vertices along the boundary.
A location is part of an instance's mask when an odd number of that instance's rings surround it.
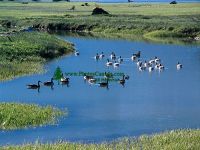
<svg viewBox="0 0 200 150">
<path fill-rule="evenodd" d="M 94 3 L 81 6 L 82 2 L 56 2 L 56 3 L 29 3 L 1 2 L 0 17 L 49 17 L 69 15 L 90 15 L 94 7 L 99 6 L 113 15 L 142 15 L 142 16 L 182 16 L 196 15 L 200 12 L 199 3 L 170 4 L 142 4 L 142 3 Z M 75 6 L 75 10 L 70 8 Z"/>
</svg>

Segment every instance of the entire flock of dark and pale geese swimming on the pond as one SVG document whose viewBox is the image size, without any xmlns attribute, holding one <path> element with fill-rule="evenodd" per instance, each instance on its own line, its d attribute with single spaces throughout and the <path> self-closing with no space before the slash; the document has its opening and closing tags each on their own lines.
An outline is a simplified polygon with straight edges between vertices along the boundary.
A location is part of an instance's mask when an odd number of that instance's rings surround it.
<svg viewBox="0 0 200 150">
<path fill-rule="evenodd" d="M 80 55 L 80 53 L 78 51 L 75 51 L 74 54 L 75 54 L 75 56 Z M 164 65 L 161 63 L 162 62 L 161 59 L 158 58 L 157 56 L 155 56 L 154 58 L 152 58 L 150 60 L 145 60 L 144 62 L 141 61 L 140 57 L 141 57 L 141 52 L 138 51 L 137 53 L 132 54 L 132 56 L 129 58 L 129 59 L 131 59 L 131 61 L 136 63 L 139 71 L 148 70 L 149 72 L 152 72 L 154 70 L 158 70 L 159 72 L 161 72 L 165 69 Z M 104 58 L 105 58 L 105 54 L 103 52 L 101 52 L 100 54 L 97 53 L 94 56 L 95 60 L 102 60 Z M 116 56 L 116 54 L 114 52 L 112 52 L 111 55 L 110 55 L 110 59 L 107 58 L 107 62 L 106 62 L 105 65 L 107 67 L 113 66 L 114 68 L 117 68 L 123 63 L 123 61 L 124 61 L 124 59 L 121 56 Z M 177 70 L 180 70 L 182 67 L 183 67 L 183 65 L 180 62 L 177 62 L 177 64 L 176 64 Z M 84 74 L 83 78 L 84 78 L 85 81 L 88 81 L 88 83 L 90 83 L 90 84 L 96 84 L 96 85 L 99 85 L 100 87 L 107 87 L 108 88 L 108 84 L 109 84 L 108 81 L 113 77 L 109 73 L 105 72 L 104 73 L 104 79 L 105 80 L 103 80 L 99 83 L 96 83 L 97 79 L 94 76 Z M 128 80 L 128 79 L 129 79 L 128 75 L 123 75 L 122 79 L 119 79 L 118 82 L 121 85 L 124 86 L 126 80 Z M 53 87 L 53 85 L 54 85 L 53 80 L 54 80 L 54 78 L 51 78 L 50 81 L 43 82 L 43 85 Z M 64 75 L 62 74 L 62 77 L 61 77 L 59 82 L 62 85 L 63 84 L 69 85 L 69 80 L 70 79 L 68 77 L 64 77 Z M 42 82 L 38 81 L 37 84 L 28 84 L 27 88 L 28 89 L 39 89 L 40 86 L 41 86 L 40 83 L 42 83 Z"/>
</svg>

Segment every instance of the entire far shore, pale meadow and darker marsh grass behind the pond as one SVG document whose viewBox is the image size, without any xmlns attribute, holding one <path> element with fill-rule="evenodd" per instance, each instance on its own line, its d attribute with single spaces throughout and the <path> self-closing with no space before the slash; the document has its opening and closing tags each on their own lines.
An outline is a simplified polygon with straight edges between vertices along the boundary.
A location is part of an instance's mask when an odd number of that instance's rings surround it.
<svg viewBox="0 0 200 150">
<path fill-rule="evenodd" d="M 112 33 L 122 37 L 143 35 L 148 39 L 184 38 L 200 35 L 200 3 L 190 4 L 98 4 L 89 3 L 1 3 L 0 24 L 4 30 L 28 26 L 43 30 L 73 30 Z M 75 6 L 75 10 L 70 8 Z M 110 15 L 92 16 L 94 7 Z"/>
</svg>

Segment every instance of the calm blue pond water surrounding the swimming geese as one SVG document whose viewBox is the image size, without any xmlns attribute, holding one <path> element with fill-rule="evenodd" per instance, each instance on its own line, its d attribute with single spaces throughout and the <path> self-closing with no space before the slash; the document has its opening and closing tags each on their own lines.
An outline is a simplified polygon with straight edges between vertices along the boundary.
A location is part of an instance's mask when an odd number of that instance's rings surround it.
<svg viewBox="0 0 200 150">
<path fill-rule="evenodd" d="M 200 127 L 200 47 L 197 45 L 155 44 L 122 39 L 73 37 L 80 56 L 66 56 L 46 64 L 46 73 L 20 77 L 0 83 L 0 101 L 24 102 L 67 108 L 68 117 L 58 125 L 14 131 L 0 131 L 0 145 L 58 140 L 102 142 L 124 136 L 139 136 L 171 129 Z M 129 58 L 141 51 L 141 60 L 158 56 L 163 72 L 138 71 Z M 106 59 L 95 61 L 98 52 L 109 56 L 114 51 L 125 61 L 119 68 L 106 67 Z M 177 71 L 180 61 L 183 69 Z M 49 80 L 57 66 L 63 72 L 116 72 L 130 76 L 125 86 L 117 82 L 109 89 L 85 83 L 83 77 L 70 77 L 69 87 L 55 83 L 54 89 L 42 86 L 40 92 L 26 84 Z"/>
</svg>

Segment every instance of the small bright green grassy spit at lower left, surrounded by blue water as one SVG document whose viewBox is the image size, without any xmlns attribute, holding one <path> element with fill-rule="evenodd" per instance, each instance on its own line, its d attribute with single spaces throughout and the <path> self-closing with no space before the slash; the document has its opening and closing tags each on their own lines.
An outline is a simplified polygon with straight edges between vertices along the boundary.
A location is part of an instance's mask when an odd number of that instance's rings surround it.
<svg viewBox="0 0 200 150">
<path fill-rule="evenodd" d="M 0 103 L 0 130 L 53 124 L 56 118 L 63 114 L 64 112 L 51 106 Z"/>
</svg>

